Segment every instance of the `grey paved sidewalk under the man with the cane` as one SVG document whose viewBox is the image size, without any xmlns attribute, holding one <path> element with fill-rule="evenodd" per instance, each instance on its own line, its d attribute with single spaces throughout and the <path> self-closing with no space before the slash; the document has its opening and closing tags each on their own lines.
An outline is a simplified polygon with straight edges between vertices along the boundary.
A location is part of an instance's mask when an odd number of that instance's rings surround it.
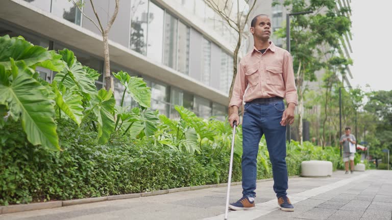
<svg viewBox="0 0 392 220">
<path fill-rule="evenodd" d="M 371 170 L 330 178 L 290 178 L 288 194 L 295 212 L 278 210 L 273 181 L 260 182 L 256 209 L 231 211 L 229 219 L 385 219 L 391 220 L 392 171 Z M 226 187 L 151 197 L 105 201 L 0 215 L 0 220 L 224 219 Z M 231 187 L 231 201 L 241 186 Z"/>
</svg>

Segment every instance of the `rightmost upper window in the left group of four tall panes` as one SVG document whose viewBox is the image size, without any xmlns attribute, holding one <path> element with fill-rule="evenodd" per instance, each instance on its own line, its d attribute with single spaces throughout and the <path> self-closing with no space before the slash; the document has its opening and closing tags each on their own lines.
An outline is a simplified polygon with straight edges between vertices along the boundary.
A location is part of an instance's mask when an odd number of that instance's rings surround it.
<svg viewBox="0 0 392 220">
<path fill-rule="evenodd" d="M 184 23 L 178 24 L 178 66 L 177 70 L 189 74 L 190 28 Z"/>
</svg>

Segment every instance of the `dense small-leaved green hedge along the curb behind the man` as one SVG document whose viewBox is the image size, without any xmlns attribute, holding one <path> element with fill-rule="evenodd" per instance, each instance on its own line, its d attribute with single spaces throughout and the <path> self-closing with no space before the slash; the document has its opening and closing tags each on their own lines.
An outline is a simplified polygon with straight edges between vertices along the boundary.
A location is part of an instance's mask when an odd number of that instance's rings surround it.
<svg viewBox="0 0 392 220">
<path fill-rule="evenodd" d="M 229 151 L 211 159 L 213 148 L 202 153 L 154 144 L 151 138 L 129 140 L 113 135 L 105 145 L 96 142 L 96 132 L 78 128 L 74 123 L 58 121 L 63 151 L 54 152 L 28 144 L 26 135 L 15 122 L 0 129 L 0 205 L 49 200 L 140 193 L 159 189 L 226 182 Z M 259 179 L 272 177 L 258 163 Z M 300 164 L 308 159 L 326 159 L 340 164 L 337 151 L 311 144 L 288 146 L 288 174 L 299 175 Z M 234 160 L 232 181 L 241 180 L 240 161 Z"/>
</svg>

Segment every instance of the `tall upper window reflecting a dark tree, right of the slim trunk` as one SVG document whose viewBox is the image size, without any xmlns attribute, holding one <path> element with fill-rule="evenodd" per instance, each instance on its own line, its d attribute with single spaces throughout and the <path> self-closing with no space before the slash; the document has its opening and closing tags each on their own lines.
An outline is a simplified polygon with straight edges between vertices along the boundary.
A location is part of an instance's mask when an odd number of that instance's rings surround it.
<svg viewBox="0 0 392 220">
<path fill-rule="evenodd" d="M 130 48 L 145 55 L 147 46 L 148 0 L 131 1 Z"/>
</svg>

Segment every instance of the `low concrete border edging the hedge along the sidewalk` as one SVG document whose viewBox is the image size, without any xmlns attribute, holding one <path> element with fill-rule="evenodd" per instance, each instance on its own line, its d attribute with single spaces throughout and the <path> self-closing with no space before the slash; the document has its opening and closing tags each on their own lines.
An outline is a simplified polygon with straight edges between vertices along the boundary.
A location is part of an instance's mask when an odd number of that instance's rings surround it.
<svg viewBox="0 0 392 220">
<path fill-rule="evenodd" d="M 291 176 L 289 178 L 296 178 L 299 176 Z M 271 179 L 261 179 L 257 180 L 257 182 L 265 182 L 271 181 Z M 231 185 L 241 185 L 242 182 L 232 182 Z M 47 209 L 47 208 L 58 208 L 62 206 L 71 206 L 71 205 L 80 205 L 87 203 L 96 203 L 96 202 L 104 202 L 104 201 L 112 201 L 112 200 L 120 200 L 120 199 L 132 199 L 139 197 L 148 197 L 148 196 L 157 196 L 163 194 L 177 193 L 181 191 L 189 191 L 189 190 L 197 190 L 204 188 L 214 188 L 214 187 L 225 187 L 227 183 L 219 183 L 212 185 L 201 185 L 201 186 L 188 186 L 181 188 L 173 188 L 173 189 L 163 189 L 158 191 L 151 191 L 146 193 L 136 193 L 136 194 L 124 194 L 124 195 L 115 195 L 115 196 L 105 196 L 105 197 L 94 197 L 94 198 L 85 198 L 85 199 L 76 199 L 76 200 L 64 200 L 64 201 L 53 201 L 53 202 L 40 202 L 40 203 L 31 203 L 31 204 L 19 204 L 19 205 L 10 205 L 10 206 L 0 206 L 0 214 L 13 213 L 13 212 L 22 212 L 22 211 L 32 211 L 39 209 Z"/>
</svg>

